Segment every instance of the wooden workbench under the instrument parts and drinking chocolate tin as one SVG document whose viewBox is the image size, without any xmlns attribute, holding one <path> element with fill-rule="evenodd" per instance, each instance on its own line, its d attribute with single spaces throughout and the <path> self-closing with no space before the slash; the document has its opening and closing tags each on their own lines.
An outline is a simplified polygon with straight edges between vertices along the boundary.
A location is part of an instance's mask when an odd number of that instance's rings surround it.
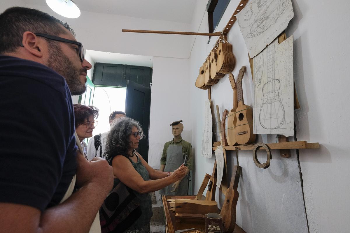
<svg viewBox="0 0 350 233">
<path fill-rule="evenodd" d="M 205 221 L 204 219 L 181 219 L 180 223 L 175 221 L 175 211 L 171 211 L 170 202 L 167 199 L 195 199 L 196 196 L 162 196 L 162 202 L 164 207 L 164 213 L 166 218 L 166 233 L 175 233 L 177 230 L 189 229 L 189 228 L 200 228 L 205 232 Z M 237 224 L 233 233 L 246 233 Z"/>
</svg>

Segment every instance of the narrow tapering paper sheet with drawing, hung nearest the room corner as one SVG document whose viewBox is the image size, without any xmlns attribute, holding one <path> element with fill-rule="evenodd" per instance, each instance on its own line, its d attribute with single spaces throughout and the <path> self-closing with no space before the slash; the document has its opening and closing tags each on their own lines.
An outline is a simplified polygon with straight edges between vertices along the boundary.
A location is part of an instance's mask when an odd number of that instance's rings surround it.
<svg viewBox="0 0 350 233">
<path fill-rule="evenodd" d="M 204 132 L 202 137 L 202 156 L 211 158 L 213 138 L 213 118 L 211 116 L 210 100 L 205 101 Z"/>
</svg>

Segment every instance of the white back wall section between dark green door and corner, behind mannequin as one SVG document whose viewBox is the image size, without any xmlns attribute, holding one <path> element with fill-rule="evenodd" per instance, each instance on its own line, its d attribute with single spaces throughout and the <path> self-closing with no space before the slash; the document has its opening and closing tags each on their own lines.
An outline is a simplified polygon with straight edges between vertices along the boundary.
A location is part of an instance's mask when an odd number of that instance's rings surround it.
<svg viewBox="0 0 350 233">
<path fill-rule="evenodd" d="M 170 123 L 183 120 L 182 138 L 191 142 L 188 59 L 153 59 L 148 164 L 159 169 L 164 143 L 173 139 Z"/>
</svg>

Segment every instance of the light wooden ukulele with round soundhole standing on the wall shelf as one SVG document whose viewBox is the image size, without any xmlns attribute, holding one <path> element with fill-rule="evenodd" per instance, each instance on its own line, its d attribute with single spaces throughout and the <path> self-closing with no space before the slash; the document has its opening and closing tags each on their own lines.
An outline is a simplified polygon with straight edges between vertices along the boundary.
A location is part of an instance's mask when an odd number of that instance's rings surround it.
<svg viewBox="0 0 350 233">
<path fill-rule="evenodd" d="M 240 145 L 253 143 L 255 141 L 255 134 L 253 133 L 253 113 L 249 105 L 245 105 L 243 102 L 243 90 L 242 79 L 246 67 L 242 66 L 239 70 L 237 79 L 237 101 L 238 106 L 236 109 L 236 128 L 235 138 L 236 142 Z"/>
</svg>

